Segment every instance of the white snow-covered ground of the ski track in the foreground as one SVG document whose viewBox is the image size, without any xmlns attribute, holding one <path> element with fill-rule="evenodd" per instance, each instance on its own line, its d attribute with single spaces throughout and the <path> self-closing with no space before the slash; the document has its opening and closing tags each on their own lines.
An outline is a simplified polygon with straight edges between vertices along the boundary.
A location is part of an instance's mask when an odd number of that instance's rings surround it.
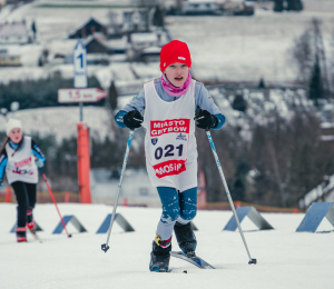
<svg viewBox="0 0 334 289">
<path fill-rule="evenodd" d="M 115 192 L 116 193 L 116 192 Z M 257 231 L 249 220 L 242 223 L 257 265 L 249 266 L 239 233 L 222 231 L 230 211 L 198 211 L 194 223 L 197 255 L 216 267 L 202 270 L 171 258 L 171 273 L 148 271 L 151 241 L 160 209 L 118 207 L 135 228 L 125 233 L 115 223 L 107 253 L 100 249 L 107 235 L 96 235 L 112 207 L 104 205 L 63 205 L 61 213 L 75 215 L 88 232 L 51 235 L 59 222 L 55 206 L 37 205 L 35 218 L 42 227 L 43 243 L 28 235 L 28 243 L 17 243 L 9 233 L 16 220 L 16 205 L 0 205 L 1 289 L 85 289 L 85 288 L 233 288 L 233 289 L 330 289 L 333 288 L 333 227 L 323 221 L 320 230 L 328 233 L 297 233 L 304 213 L 263 213 L 275 228 Z M 173 248 L 177 250 L 175 238 Z M 187 270 L 188 273 L 183 273 Z"/>
</svg>

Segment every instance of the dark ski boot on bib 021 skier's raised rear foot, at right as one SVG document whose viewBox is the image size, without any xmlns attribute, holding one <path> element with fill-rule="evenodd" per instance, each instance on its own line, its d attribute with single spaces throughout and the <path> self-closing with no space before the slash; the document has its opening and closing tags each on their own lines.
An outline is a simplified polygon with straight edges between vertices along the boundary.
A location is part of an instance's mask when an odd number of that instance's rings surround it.
<svg viewBox="0 0 334 289">
<path fill-rule="evenodd" d="M 195 249 L 197 246 L 197 240 L 191 228 L 191 222 L 188 222 L 187 225 L 176 222 L 174 226 L 174 231 L 177 243 L 183 250 L 184 255 L 189 258 L 196 257 Z"/>
</svg>

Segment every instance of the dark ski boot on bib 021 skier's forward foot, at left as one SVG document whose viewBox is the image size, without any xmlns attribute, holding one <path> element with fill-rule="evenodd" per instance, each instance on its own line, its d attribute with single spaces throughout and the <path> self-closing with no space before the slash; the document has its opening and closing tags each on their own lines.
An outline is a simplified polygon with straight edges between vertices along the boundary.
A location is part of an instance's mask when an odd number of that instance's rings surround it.
<svg viewBox="0 0 334 289">
<path fill-rule="evenodd" d="M 163 241 L 158 236 L 156 236 L 150 253 L 149 270 L 153 272 L 168 272 L 170 250 L 171 237 L 169 240 Z"/>
</svg>

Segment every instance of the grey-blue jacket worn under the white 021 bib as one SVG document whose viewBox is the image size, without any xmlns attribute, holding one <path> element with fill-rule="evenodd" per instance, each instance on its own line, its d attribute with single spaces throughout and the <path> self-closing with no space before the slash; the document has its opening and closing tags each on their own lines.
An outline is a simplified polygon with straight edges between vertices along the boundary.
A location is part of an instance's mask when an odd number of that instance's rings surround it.
<svg viewBox="0 0 334 289">
<path fill-rule="evenodd" d="M 155 88 L 157 90 L 157 93 L 163 100 L 170 102 L 170 101 L 175 101 L 177 99 L 176 97 L 171 97 L 170 94 L 168 94 L 165 91 L 160 79 L 155 79 L 154 81 L 155 81 Z M 210 97 L 210 94 L 208 93 L 208 91 L 204 87 L 204 84 L 196 81 L 195 108 L 194 108 L 195 112 L 198 107 L 203 110 L 207 110 L 208 112 L 210 112 L 212 114 L 214 114 L 217 118 L 218 123 L 213 129 L 217 130 L 223 127 L 223 124 L 225 123 L 225 117 L 223 116 L 223 113 L 220 112 L 218 107 L 215 104 L 213 98 Z M 138 111 L 141 111 L 143 109 L 145 109 L 145 90 L 144 90 L 144 88 L 140 90 L 139 94 L 137 94 L 130 101 L 130 103 L 126 104 L 125 108 L 122 110 L 118 111 L 118 113 L 115 116 L 115 121 L 118 124 L 118 127 L 126 128 L 126 126 L 124 124 L 124 116 L 135 109 L 137 109 Z"/>
</svg>

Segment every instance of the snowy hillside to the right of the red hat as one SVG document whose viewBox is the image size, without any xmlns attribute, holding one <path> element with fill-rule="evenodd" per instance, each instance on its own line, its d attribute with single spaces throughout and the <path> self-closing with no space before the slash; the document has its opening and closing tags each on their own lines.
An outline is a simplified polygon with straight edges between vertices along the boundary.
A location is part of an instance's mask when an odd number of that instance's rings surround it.
<svg viewBox="0 0 334 289">
<path fill-rule="evenodd" d="M 200 80 L 258 81 L 264 77 L 273 82 L 294 81 L 288 58 L 294 39 L 318 18 L 330 48 L 333 12 L 333 1 L 308 0 L 301 13 L 257 9 L 253 17 L 169 17 L 167 28 L 174 39 L 188 43 Z"/>
</svg>

